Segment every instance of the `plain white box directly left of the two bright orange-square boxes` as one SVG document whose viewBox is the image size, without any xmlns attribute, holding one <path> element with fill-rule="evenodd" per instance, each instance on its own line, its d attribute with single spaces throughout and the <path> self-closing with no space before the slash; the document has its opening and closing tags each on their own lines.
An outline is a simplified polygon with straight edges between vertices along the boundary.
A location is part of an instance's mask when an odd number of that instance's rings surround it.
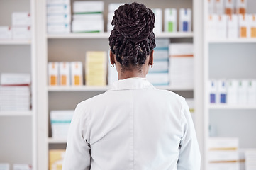
<svg viewBox="0 0 256 170">
<path fill-rule="evenodd" d="M 228 38 L 238 38 L 238 16 L 228 16 Z"/>
</svg>

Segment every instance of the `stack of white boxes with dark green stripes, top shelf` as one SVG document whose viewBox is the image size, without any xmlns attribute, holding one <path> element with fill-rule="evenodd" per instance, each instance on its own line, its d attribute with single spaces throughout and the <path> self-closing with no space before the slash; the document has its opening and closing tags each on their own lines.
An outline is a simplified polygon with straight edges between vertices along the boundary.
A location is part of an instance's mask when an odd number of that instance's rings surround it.
<svg viewBox="0 0 256 170">
<path fill-rule="evenodd" d="M 73 33 L 104 32 L 104 1 L 74 1 Z"/>
</svg>

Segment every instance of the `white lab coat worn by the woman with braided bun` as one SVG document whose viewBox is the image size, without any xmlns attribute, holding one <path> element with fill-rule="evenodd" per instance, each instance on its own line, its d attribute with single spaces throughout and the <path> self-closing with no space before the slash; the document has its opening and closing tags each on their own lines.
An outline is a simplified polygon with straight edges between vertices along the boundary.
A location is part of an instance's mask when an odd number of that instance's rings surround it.
<svg viewBox="0 0 256 170">
<path fill-rule="evenodd" d="M 200 164 L 184 98 L 131 78 L 77 105 L 63 170 L 199 170 Z"/>
</svg>

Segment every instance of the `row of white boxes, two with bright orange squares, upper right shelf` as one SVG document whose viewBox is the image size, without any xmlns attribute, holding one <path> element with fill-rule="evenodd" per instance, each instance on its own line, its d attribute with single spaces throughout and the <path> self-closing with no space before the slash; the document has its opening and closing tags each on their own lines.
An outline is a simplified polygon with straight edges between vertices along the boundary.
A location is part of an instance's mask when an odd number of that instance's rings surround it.
<svg viewBox="0 0 256 170">
<path fill-rule="evenodd" d="M 208 36 L 211 38 L 256 38 L 256 15 L 210 15 Z"/>
</svg>

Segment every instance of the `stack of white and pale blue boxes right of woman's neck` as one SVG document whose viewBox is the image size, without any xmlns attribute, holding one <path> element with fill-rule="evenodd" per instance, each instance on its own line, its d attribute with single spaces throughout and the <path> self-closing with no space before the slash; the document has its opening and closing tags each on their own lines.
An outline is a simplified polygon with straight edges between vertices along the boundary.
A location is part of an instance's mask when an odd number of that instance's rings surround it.
<svg viewBox="0 0 256 170">
<path fill-rule="evenodd" d="M 149 69 L 147 79 L 155 86 L 169 85 L 169 39 L 157 38 L 154 49 L 154 64 Z"/>
</svg>

